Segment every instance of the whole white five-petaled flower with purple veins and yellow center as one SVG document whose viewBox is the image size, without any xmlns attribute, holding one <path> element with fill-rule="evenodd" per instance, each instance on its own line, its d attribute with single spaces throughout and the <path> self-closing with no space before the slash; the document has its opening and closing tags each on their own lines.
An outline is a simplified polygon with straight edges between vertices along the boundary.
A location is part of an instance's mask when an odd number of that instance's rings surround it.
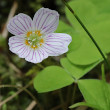
<svg viewBox="0 0 110 110">
<path fill-rule="evenodd" d="M 10 51 L 32 63 L 67 52 L 72 39 L 68 34 L 53 33 L 58 22 L 59 14 L 48 8 L 39 9 L 33 21 L 25 14 L 16 15 L 7 26 L 14 34 L 9 38 Z"/>
</svg>

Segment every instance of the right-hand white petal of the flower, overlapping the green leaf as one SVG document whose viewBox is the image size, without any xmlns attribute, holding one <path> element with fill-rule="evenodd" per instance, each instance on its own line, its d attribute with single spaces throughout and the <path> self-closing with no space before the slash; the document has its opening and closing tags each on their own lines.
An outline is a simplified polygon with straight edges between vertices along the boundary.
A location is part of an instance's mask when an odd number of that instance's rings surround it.
<svg viewBox="0 0 110 110">
<path fill-rule="evenodd" d="M 46 36 L 43 49 L 49 56 L 58 56 L 68 51 L 72 38 L 68 34 L 52 33 Z"/>
</svg>

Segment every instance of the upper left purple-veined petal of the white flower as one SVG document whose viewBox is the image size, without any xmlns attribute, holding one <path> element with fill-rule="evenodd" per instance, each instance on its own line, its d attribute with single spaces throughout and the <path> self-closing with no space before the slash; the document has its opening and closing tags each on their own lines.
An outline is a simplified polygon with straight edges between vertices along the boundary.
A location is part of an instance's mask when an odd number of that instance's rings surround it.
<svg viewBox="0 0 110 110">
<path fill-rule="evenodd" d="M 27 31 L 32 30 L 32 27 L 31 18 L 22 13 L 13 17 L 7 25 L 8 31 L 14 35 L 25 34 Z"/>
</svg>

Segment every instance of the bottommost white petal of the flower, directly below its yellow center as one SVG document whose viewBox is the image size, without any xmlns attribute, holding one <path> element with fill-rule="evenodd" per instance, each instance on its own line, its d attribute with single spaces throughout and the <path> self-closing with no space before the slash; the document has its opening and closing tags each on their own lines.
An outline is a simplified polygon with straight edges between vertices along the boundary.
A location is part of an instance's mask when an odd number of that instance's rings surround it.
<svg viewBox="0 0 110 110">
<path fill-rule="evenodd" d="M 40 63 L 42 60 L 48 57 L 48 54 L 42 49 L 30 49 L 29 54 L 26 56 L 26 61 L 32 62 L 32 63 Z"/>
</svg>

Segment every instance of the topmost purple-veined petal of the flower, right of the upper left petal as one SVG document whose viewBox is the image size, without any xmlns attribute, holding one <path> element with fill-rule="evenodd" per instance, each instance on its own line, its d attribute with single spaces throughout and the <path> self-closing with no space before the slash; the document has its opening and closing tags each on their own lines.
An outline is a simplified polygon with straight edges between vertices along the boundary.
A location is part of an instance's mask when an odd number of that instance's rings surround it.
<svg viewBox="0 0 110 110">
<path fill-rule="evenodd" d="M 33 25 L 36 30 L 40 30 L 42 34 L 53 33 L 59 22 L 59 14 L 48 8 L 39 9 L 33 18 Z"/>
</svg>

